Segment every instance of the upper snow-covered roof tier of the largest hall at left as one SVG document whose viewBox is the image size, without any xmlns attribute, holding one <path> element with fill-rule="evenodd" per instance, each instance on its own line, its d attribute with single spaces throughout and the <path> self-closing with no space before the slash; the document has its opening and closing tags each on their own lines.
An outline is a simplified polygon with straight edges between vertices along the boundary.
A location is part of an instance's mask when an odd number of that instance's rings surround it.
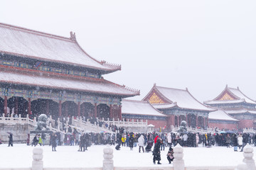
<svg viewBox="0 0 256 170">
<path fill-rule="evenodd" d="M 48 62 L 59 62 L 105 72 L 121 69 L 120 65 L 98 62 L 82 50 L 75 35 L 70 38 L 0 23 L 0 52 Z"/>
</svg>

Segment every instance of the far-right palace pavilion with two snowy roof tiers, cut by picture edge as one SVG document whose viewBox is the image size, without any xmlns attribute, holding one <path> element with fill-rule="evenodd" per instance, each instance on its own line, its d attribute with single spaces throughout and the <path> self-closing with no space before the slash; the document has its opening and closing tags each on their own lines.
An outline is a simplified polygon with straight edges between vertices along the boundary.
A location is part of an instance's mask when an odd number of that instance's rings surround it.
<svg viewBox="0 0 256 170">
<path fill-rule="evenodd" d="M 239 88 L 226 86 L 219 96 L 204 103 L 214 108 L 221 108 L 232 118 L 239 120 L 239 130 L 256 128 L 256 102 L 245 96 Z"/>
</svg>

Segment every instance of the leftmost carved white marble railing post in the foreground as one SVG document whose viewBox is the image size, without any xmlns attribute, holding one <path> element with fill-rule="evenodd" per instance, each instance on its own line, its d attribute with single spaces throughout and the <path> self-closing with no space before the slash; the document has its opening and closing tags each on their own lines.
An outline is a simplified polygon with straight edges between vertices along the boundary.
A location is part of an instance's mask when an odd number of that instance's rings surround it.
<svg viewBox="0 0 256 170">
<path fill-rule="evenodd" d="M 33 162 L 32 170 L 43 170 L 43 149 L 41 147 L 35 147 L 33 149 Z"/>
</svg>

